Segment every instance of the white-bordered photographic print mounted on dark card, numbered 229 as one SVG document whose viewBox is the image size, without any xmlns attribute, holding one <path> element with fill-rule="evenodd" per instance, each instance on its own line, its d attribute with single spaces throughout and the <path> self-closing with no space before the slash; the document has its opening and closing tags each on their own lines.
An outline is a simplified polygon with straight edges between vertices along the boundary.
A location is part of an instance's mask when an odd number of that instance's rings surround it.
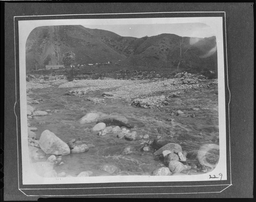
<svg viewBox="0 0 256 202">
<path fill-rule="evenodd" d="M 227 179 L 222 17 L 18 21 L 22 180 Z"/>
</svg>

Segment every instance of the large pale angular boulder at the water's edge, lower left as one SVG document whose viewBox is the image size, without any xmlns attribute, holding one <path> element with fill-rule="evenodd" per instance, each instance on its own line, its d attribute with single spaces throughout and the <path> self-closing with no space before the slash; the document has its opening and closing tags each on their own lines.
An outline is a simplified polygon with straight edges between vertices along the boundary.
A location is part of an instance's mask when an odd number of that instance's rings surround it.
<svg viewBox="0 0 256 202">
<path fill-rule="evenodd" d="M 67 155 L 70 154 L 69 146 L 60 140 L 50 130 L 41 133 L 39 146 L 46 154 Z"/>
</svg>

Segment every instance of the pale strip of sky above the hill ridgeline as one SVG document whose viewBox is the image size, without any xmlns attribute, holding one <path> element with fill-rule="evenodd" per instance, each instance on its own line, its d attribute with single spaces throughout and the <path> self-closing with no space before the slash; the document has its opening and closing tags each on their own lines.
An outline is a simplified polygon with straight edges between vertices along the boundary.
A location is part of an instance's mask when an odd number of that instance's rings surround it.
<svg viewBox="0 0 256 202">
<path fill-rule="evenodd" d="M 199 38 L 215 35 L 212 29 L 203 23 L 83 26 L 91 29 L 108 30 L 120 36 L 132 36 L 137 38 L 141 38 L 143 36 L 156 36 L 163 33 Z"/>
</svg>

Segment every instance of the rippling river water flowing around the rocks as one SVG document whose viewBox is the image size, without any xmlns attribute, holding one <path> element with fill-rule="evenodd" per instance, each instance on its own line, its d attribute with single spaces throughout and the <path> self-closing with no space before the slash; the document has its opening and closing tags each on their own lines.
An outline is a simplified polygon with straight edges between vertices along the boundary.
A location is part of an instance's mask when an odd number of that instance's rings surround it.
<svg viewBox="0 0 256 202">
<path fill-rule="evenodd" d="M 114 175 L 151 175 L 161 165 L 162 160 L 154 156 L 154 151 L 142 151 L 148 140 L 128 141 L 118 139 L 113 134 L 98 136 L 91 132 L 94 123 L 80 124 L 79 119 L 90 111 L 105 114 L 119 114 L 127 117 L 135 125 L 139 135 L 148 134 L 150 140 L 157 138 L 180 144 L 183 151 L 198 150 L 204 144 L 219 143 L 218 95 L 216 88 L 200 88 L 178 98 L 169 98 L 169 104 L 162 108 L 138 108 L 123 100 L 105 99 L 103 104 L 94 104 L 87 97 L 102 98 L 103 91 L 90 92 L 82 97 L 65 95 L 71 88 L 48 87 L 31 90 L 30 98 L 40 100 L 31 104 L 36 110 L 57 109 L 57 113 L 30 119 L 31 127 L 37 127 L 37 139 L 48 129 L 64 142 L 71 139 L 82 140 L 91 145 L 89 151 L 62 156 L 64 165 L 56 166 L 57 173 L 66 172 L 76 176 L 82 171 L 92 171 L 93 176 L 111 175 L 98 169 L 101 164 L 113 164 L 120 168 Z M 104 90 L 105 92 L 106 90 Z M 165 93 L 161 94 L 165 95 Z M 192 107 L 196 107 L 192 109 Z M 171 116 L 170 111 L 182 110 L 184 116 Z M 190 117 L 194 114 L 195 117 Z M 136 152 L 121 154 L 133 146 Z M 40 161 L 46 161 L 49 155 Z M 200 172 L 198 172 L 200 173 Z"/>
</svg>

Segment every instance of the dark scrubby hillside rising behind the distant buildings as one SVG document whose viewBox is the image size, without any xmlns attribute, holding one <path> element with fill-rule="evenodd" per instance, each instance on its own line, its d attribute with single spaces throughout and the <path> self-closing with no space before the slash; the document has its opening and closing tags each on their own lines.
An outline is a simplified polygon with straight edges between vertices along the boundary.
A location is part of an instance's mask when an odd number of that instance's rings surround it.
<svg viewBox="0 0 256 202">
<path fill-rule="evenodd" d="M 113 64 L 159 68 L 217 71 L 216 38 L 190 38 L 174 34 L 152 37 L 122 37 L 106 30 L 83 26 L 35 28 L 26 43 L 26 69 L 46 64 Z"/>
</svg>

